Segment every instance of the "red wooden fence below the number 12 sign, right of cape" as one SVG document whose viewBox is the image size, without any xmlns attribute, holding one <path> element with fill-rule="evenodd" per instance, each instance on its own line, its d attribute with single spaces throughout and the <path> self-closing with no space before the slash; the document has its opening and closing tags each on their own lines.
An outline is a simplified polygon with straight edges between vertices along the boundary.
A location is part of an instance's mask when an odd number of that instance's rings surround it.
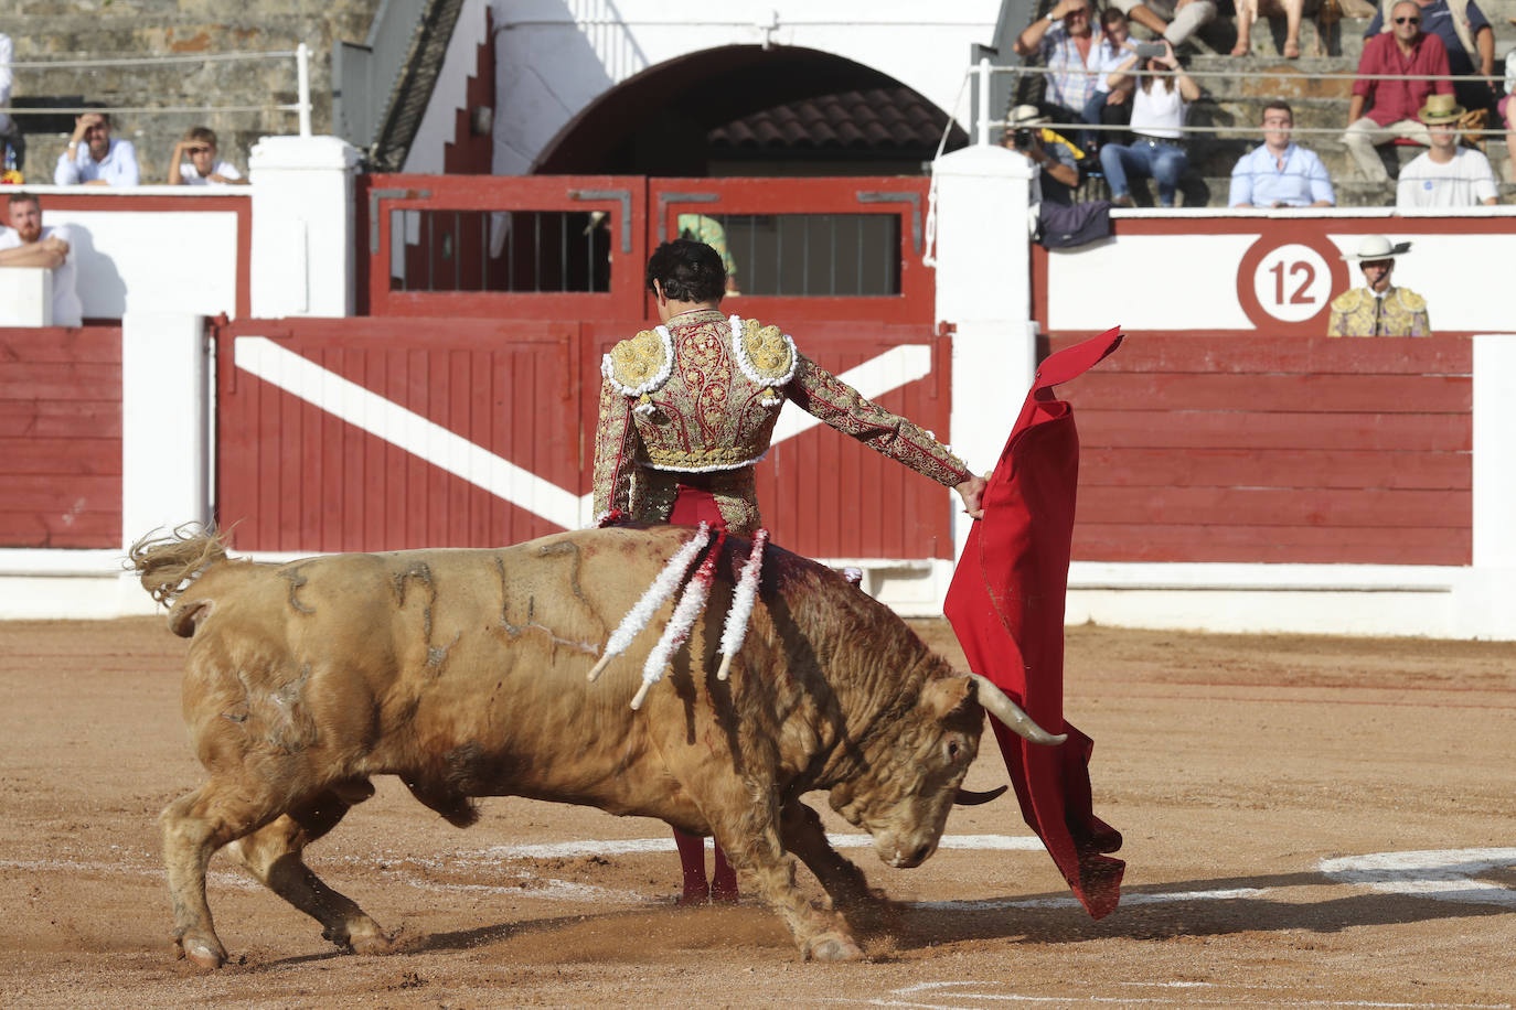
<svg viewBox="0 0 1516 1010">
<path fill-rule="evenodd" d="M 1467 565 L 1471 373 L 1466 338 L 1129 336 L 1066 388 L 1073 556 Z"/>
</svg>

